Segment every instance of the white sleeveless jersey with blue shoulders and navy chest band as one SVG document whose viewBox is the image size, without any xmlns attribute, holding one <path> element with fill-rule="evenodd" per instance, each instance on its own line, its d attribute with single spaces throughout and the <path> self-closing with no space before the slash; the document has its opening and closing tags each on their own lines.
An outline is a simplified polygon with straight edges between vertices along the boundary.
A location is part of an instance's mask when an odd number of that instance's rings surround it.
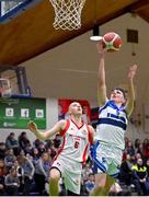
<svg viewBox="0 0 149 197">
<path fill-rule="evenodd" d="M 99 108 L 95 139 L 123 150 L 125 148 L 124 135 L 127 124 L 125 107 L 118 107 L 110 100 Z"/>
</svg>

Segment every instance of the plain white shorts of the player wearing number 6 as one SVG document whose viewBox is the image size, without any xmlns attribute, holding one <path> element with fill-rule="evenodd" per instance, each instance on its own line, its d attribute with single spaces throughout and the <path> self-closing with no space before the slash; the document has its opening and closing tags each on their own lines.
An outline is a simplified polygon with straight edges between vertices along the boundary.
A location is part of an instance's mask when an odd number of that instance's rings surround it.
<svg viewBox="0 0 149 197">
<path fill-rule="evenodd" d="M 61 172 L 66 189 L 80 194 L 82 163 L 59 155 L 51 167 Z"/>
</svg>

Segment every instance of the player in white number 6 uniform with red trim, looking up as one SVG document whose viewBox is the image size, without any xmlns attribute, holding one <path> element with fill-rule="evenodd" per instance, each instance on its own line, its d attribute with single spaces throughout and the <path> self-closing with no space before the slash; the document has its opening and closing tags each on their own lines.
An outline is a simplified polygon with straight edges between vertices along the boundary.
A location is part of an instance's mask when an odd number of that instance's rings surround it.
<svg viewBox="0 0 149 197">
<path fill-rule="evenodd" d="M 94 129 L 82 121 L 82 107 L 78 102 L 69 105 L 70 119 L 59 120 L 50 130 L 42 132 L 35 123 L 28 123 L 28 129 L 38 139 L 46 140 L 53 135 L 64 137 L 61 148 L 54 159 L 49 171 L 49 194 L 58 196 L 58 182 L 64 178 L 68 195 L 79 195 L 82 163 L 88 158 L 88 149 L 93 141 Z"/>
</svg>

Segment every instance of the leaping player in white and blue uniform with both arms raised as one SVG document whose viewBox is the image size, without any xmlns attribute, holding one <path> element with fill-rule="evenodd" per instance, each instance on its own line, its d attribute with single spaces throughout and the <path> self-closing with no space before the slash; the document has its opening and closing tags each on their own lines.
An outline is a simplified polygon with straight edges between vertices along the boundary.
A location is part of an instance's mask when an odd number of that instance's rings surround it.
<svg viewBox="0 0 149 197">
<path fill-rule="evenodd" d="M 100 54 L 99 66 L 99 124 L 96 126 L 95 144 L 92 148 L 94 162 L 95 187 L 92 196 L 107 196 L 114 184 L 124 150 L 124 135 L 127 127 L 127 118 L 134 108 L 135 91 L 134 77 L 137 66 L 129 68 L 128 97 L 126 100 L 123 89 L 114 89 L 110 100 L 106 96 L 104 49 L 102 43 L 98 44 Z"/>
</svg>

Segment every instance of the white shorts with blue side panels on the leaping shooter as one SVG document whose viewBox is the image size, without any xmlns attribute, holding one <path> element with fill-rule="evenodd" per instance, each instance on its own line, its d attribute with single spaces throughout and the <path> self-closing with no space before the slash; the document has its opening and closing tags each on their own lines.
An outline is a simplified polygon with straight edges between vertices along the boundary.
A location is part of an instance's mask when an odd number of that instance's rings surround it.
<svg viewBox="0 0 149 197">
<path fill-rule="evenodd" d="M 119 173 L 122 157 L 123 151 L 121 149 L 98 141 L 93 153 L 94 173 L 106 173 L 116 177 Z"/>
</svg>

